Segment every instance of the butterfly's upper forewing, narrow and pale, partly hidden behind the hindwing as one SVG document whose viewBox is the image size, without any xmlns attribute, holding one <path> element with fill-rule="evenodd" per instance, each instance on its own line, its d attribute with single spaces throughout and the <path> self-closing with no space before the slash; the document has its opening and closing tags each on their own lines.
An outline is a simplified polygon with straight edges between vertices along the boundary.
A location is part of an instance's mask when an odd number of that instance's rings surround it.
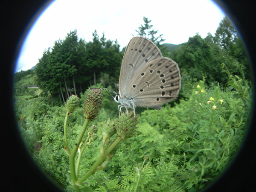
<svg viewBox="0 0 256 192">
<path fill-rule="evenodd" d="M 134 37 L 125 49 L 119 76 L 119 94 L 121 97 L 131 95 L 127 91 L 128 84 L 134 76 L 149 62 L 161 58 L 158 47 L 147 38 Z"/>
</svg>

